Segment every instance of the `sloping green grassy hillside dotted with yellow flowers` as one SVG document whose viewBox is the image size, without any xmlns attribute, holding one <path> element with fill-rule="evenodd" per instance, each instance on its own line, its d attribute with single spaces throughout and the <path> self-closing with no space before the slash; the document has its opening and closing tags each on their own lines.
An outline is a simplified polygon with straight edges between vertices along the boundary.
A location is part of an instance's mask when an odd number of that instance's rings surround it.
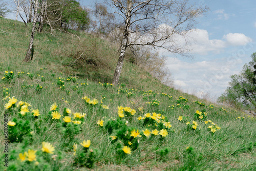
<svg viewBox="0 0 256 171">
<path fill-rule="evenodd" d="M 112 86 L 118 47 L 92 35 L 36 34 L 24 63 L 29 29 L 0 18 L 0 30 L 0 170 L 255 170 L 255 118 L 128 60 Z"/>
</svg>

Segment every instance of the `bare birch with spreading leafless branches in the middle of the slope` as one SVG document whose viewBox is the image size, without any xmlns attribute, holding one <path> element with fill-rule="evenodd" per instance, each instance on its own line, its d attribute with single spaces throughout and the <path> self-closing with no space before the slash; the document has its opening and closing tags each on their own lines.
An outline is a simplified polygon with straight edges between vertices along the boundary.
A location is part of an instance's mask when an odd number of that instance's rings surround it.
<svg viewBox="0 0 256 171">
<path fill-rule="evenodd" d="M 113 84 L 119 82 L 125 50 L 129 46 L 163 48 L 186 56 L 189 51 L 186 41 L 181 46 L 179 38 L 184 39 L 196 23 L 195 19 L 208 10 L 190 4 L 189 0 L 109 0 L 108 5 L 121 21 L 119 25 L 124 26 Z"/>
</svg>

